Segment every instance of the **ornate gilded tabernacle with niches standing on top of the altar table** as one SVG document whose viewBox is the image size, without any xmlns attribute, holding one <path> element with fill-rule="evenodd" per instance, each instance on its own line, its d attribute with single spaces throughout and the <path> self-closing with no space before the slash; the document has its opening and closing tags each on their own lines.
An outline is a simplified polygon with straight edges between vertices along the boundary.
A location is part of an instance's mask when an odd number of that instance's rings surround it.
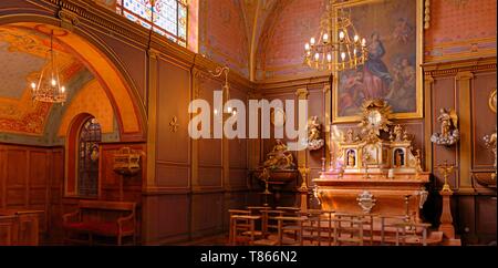
<svg viewBox="0 0 498 268">
<path fill-rule="evenodd" d="M 390 114 L 391 107 L 382 100 L 363 103 L 360 133 L 350 128 L 339 142 L 341 173 L 388 172 L 391 176 L 394 172 L 422 172 L 419 151 L 413 154 L 411 135 L 403 126 L 393 125 Z"/>
</svg>

